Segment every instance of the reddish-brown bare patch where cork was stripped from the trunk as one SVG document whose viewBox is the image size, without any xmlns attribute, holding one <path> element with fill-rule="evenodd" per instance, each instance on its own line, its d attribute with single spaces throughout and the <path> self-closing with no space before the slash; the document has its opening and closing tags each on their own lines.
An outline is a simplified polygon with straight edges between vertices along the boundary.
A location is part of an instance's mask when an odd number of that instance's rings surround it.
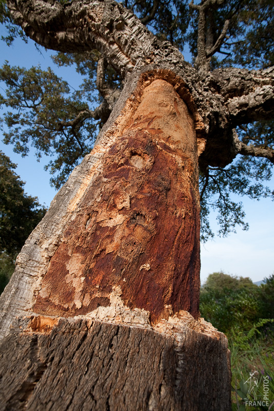
<svg viewBox="0 0 274 411">
<path fill-rule="evenodd" d="M 34 312 L 71 316 L 109 305 L 113 287 L 157 322 L 198 316 L 199 203 L 194 124 L 156 80 L 103 159 L 43 278 Z"/>
</svg>

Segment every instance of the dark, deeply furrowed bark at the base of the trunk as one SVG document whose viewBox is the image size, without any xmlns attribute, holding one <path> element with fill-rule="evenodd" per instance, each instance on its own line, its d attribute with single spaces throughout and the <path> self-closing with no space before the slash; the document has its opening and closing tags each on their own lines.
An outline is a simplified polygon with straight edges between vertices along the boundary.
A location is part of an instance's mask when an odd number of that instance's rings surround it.
<svg viewBox="0 0 274 411">
<path fill-rule="evenodd" d="M 31 316 L 0 352 L 3 411 L 230 409 L 227 340 L 185 312 L 156 330 Z"/>
</svg>

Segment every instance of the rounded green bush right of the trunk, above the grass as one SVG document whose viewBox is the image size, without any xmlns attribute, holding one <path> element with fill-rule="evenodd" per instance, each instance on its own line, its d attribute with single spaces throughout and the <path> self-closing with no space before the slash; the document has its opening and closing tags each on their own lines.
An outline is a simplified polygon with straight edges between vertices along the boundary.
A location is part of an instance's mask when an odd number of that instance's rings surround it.
<svg viewBox="0 0 274 411">
<path fill-rule="evenodd" d="M 200 292 L 201 316 L 244 346 L 265 324 L 269 326 L 272 322 L 273 289 L 273 276 L 258 287 L 248 277 L 223 272 L 210 274 Z"/>
</svg>

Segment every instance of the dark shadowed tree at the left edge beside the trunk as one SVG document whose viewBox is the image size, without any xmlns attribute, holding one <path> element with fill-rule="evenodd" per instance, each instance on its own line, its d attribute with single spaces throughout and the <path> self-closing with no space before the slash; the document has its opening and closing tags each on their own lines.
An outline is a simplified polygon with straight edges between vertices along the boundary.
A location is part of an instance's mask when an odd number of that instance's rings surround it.
<svg viewBox="0 0 274 411">
<path fill-rule="evenodd" d="M 0 152 L 0 253 L 4 266 L 7 259 L 14 262 L 26 238 L 46 212 L 36 197 L 24 192 L 24 182 L 13 171 L 15 168 Z"/>
</svg>

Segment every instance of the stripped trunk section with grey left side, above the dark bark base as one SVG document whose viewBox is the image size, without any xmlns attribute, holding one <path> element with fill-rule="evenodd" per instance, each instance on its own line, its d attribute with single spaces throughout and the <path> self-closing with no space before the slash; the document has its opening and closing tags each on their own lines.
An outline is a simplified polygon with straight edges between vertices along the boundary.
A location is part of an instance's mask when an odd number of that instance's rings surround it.
<svg viewBox="0 0 274 411">
<path fill-rule="evenodd" d="M 109 306 L 114 288 L 155 324 L 179 310 L 198 317 L 200 124 L 173 73 L 144 72 L 129 85 L 17 259 L 1 297 L 2 334 L 29 310 L 74 316 Z"/>
</svg>

